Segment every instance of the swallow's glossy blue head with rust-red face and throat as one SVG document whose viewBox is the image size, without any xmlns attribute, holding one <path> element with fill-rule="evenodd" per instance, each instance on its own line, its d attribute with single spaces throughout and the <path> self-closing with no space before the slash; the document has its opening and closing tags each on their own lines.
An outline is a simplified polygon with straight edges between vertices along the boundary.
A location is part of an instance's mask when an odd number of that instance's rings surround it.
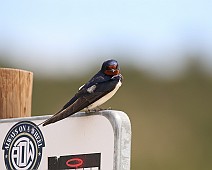
<svg viewBox="0 0 212 170">
<path fill-rule="evenodd" d="M 101 71 L 109 76 L 120 74 L 118 62 L 116 60 L 107 60 L 102 64 Z"/>
</svg>

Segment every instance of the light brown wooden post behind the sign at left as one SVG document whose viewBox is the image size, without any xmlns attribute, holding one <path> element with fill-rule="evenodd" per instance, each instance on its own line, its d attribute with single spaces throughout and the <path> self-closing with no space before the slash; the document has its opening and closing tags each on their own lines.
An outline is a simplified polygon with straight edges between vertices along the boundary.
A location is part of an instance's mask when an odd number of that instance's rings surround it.
<svg viewBox="0 0 212 170">
<path fill-rule="evenodd" d="M 31 116 L 33 73 L 0 68 L 0 119 Z"/>
</svg>

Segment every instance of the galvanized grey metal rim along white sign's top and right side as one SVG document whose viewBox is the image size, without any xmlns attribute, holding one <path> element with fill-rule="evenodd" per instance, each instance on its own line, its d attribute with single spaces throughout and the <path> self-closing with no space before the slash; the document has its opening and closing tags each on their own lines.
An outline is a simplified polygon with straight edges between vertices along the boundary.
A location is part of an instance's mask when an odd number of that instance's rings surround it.
<svg viewBox="0 0 212 170">
<path fill-rule="evenodd" d="M 78 112 L 71 117 L 82 117 L 91 115 L 101 115 L 107 118 L 114 131 L 114 167 L 113 170 L 130 170 L 130 156 L 131 156 L 131 123 L 126 113 L 117 110 L 103 110 L 99 112 Z M 17 122 L 24 120 L 45 120 L 51 117 L 47 116 L 33 116 L 12 119 L 0 119 L 0 123 Z"/>
</svg>

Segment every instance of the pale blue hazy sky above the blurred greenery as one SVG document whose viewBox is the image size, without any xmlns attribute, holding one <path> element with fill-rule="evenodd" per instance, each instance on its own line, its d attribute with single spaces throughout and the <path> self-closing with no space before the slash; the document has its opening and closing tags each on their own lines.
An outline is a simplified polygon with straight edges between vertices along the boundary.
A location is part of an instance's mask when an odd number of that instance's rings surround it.
<svg viewBox="0 0 212 170">
<path fill-rule="evenodd" d="M 201 54 L 210 70 L 211 7 L 211 0 L 1 0 L 0 54 L 41 74 L 79 67 L 83 74 L 117 58 L 165 75 L 183 70 L 186 54 Z"/>
</svg>

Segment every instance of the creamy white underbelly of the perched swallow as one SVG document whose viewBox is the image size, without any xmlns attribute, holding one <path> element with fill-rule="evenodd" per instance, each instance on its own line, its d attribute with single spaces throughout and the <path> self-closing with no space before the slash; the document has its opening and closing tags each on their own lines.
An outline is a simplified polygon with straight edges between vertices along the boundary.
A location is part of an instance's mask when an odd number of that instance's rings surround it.
<svg viewBox="0 0 212 170">
<path fill-rule="evenodd" d="M 121 81 L 119 81 L 115 87 L 115 89 L 113 91 L 111 91 L 110 93 L 106 94 L 104 97 L 100 98 L 99 100 L 97 100 L 96 102 L 92 103 L 91 105 L 89 105 L 87 107 L 88 110 L 94 109 L 97 106 L 102 105 L 103 103 L 105 103 L 107 100 L 109 100 L 111 97 L 113 97 L 113 95 L 117 92 L 117 90 L 119 89 L 119 87 L 121 86 Z"/>
</svg>

